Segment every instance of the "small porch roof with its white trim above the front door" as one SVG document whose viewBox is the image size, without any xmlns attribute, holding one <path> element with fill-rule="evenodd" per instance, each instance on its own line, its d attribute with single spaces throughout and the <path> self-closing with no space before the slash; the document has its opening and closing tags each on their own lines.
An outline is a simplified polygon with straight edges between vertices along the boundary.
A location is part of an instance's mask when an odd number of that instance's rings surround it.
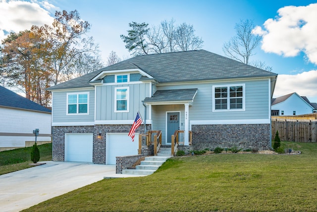
<svg viewBox="0 0 317 212">
<path fill-rule="evenodd" d="M 197 94 L 197 90 L 197 88 L 157 90 L 151 97 L 145 98 L 143 102 L 148 105 L 192 105 Z"/>
</svg>

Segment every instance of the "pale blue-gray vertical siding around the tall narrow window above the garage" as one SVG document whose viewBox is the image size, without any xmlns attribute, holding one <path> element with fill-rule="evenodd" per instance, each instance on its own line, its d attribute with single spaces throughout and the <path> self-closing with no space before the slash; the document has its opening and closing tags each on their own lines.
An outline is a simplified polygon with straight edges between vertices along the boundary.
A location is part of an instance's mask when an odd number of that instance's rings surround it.
<svg viewBox="0 0 317 212">
<path fill-rule="evenodd" d="M 145 97 L 151 96 L 149 86 L 150 83 L 96 86 L 96 121 L 134 120 L 137 111 L 144 118 L 145 108 L 142 101 Z M 128 112 L 115 112 L 115 88 L 117 87 L 129 87 Z M 147 106 L 147 119 L 149 114 L 149 106 Z"/>
</svg>

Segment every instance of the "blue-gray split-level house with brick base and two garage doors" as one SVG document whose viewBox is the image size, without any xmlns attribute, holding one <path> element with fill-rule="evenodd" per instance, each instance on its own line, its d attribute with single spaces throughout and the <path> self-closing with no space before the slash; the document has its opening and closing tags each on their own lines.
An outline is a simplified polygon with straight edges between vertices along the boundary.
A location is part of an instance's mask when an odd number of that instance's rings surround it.
<svg viewBox="0 0 317 212">
<path fill-rule="evenodd" d="M 137 56 L 49 88 L 53 160 L 115 164 L 138 153 L 128 133 L 162 132 L 184 147 L 270 147 L 271 98 L 277 74 L 205 50 Z M 192 132 L 190 142 L 189 132 Z"/>
</svg>

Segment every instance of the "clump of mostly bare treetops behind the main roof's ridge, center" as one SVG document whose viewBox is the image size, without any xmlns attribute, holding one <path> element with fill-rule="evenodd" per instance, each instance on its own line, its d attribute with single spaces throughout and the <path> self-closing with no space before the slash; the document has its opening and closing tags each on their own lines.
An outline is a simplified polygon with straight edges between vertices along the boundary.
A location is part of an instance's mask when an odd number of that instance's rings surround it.
<svg viewBox="0 0 317 212">
<path fill-rule="evenodd" d="M 132 55 L 201 49 L 203 40 L 195 35 L 193 25 L 175 25 L 174 19 L 148 28 L 147 23 L 129 23 L 128 35 L 120 35 Z"/>
</svg>

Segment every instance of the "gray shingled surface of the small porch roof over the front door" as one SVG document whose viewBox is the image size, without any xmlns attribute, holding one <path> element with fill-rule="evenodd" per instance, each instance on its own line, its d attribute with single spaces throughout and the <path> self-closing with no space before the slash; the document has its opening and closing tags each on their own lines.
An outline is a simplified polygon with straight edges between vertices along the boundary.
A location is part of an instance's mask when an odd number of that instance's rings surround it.
<svg viewBox="0 0 317 212">
<path fill-rule="evenodd" d="M 157 90 L 151 97 L 147 97 L 143 102 L 169 102 L 169 101 L 193 101 L 197 88 Z"/>
</svg>

